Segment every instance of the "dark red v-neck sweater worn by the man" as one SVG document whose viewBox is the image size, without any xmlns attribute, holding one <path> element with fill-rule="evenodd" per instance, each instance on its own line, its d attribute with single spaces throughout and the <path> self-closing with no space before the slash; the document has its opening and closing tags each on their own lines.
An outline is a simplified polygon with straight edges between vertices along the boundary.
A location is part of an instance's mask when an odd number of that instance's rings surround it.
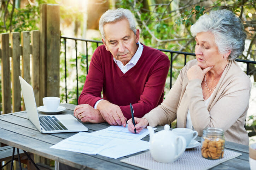
<svg viewBox="0 0 256 170">
<path fill-rule="evenodd" d="M 94 107 L 103 91 L 103 99 L 120 106 L 127 120 L 131 118 L 129 103 L 134 116 L 141 118 L 163 101 L 169 66 L 163 52 L 143 45 L 136 65 L 123 74 L 111 53 L 101 45 L 93 53 L 78 104 Z"/>
</svg>

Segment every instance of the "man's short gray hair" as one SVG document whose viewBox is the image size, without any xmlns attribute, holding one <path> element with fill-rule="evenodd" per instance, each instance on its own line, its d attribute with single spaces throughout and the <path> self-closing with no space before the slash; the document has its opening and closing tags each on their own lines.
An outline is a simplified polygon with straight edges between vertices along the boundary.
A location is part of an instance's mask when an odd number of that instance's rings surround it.
<svg viewBox="0 0 256 170">
<path fill-rule="evenodd" d="M 105 33 L 103 30 L 103 26 L 107 23 L 115 23 L 117 21 L 121 21 L 123 19 L 127 19 L 130 24 L 130 29 L 136 34 L 135 21 L 133 19 L 133 14 L 128 9 L 118 8 L 116 10 L 107 10 L 100 17 L 99 21 L 99 30 L 102 36 L 102 39 L 105 42 Z"/>
</svg>

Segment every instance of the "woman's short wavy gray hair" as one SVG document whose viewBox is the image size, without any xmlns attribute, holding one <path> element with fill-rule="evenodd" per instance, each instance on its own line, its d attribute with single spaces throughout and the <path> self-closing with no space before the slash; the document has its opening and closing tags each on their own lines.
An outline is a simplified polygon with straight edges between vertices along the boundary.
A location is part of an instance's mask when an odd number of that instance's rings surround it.
<svg viewBox="0 0 256 170">
<path fill-rule="evenodd" d="M 246 33 L 240 18 L 228 10 L 211 11 L 202 15 L 190 28 L 193 36 L 200 32 L 211 32 L 219 52 L 231 50 L 228 60 L 234 60 L 244 51 Z"/>
</svg>

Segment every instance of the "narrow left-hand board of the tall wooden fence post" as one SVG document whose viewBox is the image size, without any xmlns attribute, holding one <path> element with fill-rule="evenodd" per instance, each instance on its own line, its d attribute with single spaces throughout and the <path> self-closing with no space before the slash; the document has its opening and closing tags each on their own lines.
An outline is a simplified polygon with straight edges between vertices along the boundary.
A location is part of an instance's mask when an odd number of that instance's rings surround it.
<svg viewBox="0 0 256 170">
<path fill-rule="evenodd" d="M 46 96 L 46 4 L 40 4 L 40 92 L 39 105 L 43 105 L 42 98 Z"/>
</svg>

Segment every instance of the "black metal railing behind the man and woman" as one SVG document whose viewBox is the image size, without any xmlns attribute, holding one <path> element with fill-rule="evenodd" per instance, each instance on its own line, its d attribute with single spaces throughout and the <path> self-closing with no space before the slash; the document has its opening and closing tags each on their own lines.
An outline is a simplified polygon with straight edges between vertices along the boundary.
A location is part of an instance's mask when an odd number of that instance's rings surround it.
<svg viewBox="0 0 256 170">
<path fill-rule="evenodd" d="M 61 36 L 60 39 L 64 39 L 64 55 L 65 55 L 65 97 L 66 97 L 66 102 L 67 102 L 67 84 L 66 84 L 66 40 L 74 40 L 75 42 L 75 53 L 76 53 L 76 96 L 78 100 L 78 68 L 77 68 L 77 41 L 81 42 L 86 42 L 86 73 L 88 74 L 88 42 L 91 43 L 96 43 L 97 47 L 99 44 L 103 44 L 102 41 L 97 41 L 97 40 L 88 40 L 88 39 L 80 39 L 80 38 L 70 38 L 70 37 L 63 37 Z M 184 55 L 184 65 L 187 63 L 187 56 L 196 56 L 195 53 L 190 53 L 190 52 L 182 52 L 182 51 L 172 51 L 172 50 L 165 50 L 165 49 L 158 49 L 162 52 L 167 52 L 170 53 L 170 88 L 172 84 L 172 74 L 173 74 L 173 54 L 181 54 Z M 246 74 L 249 75 L 249 64 L 256 64 L 256 61 L 249 61 L 249 60 L 244 60 L 244 59 L 235 59 L 237 62 L 242 62 L 246 63 Z"/>
</svg>

